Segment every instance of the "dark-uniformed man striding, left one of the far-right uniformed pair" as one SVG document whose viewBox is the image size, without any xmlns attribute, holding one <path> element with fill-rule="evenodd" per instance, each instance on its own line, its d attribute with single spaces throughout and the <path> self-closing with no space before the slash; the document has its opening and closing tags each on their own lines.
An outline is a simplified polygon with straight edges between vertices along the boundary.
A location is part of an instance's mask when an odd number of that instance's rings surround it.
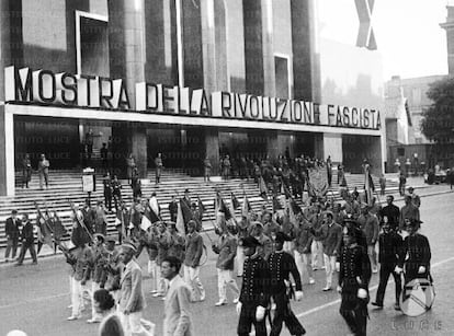
<svg viewBox="0 0 454 336">
<path fill-rule="evenodd" d="M 373 305 L 383 308 L 383 299 L 385 298 L 386 285 L 388 283 L 389 275 L 393 274 L 396 283 L 396 303 L 394 308 L 400 310 L 399 298 L 402 291 L 402 281 L 400 275 L 395 271 L 397 262 L 400 259 L 402 253 L 402 237 L 391 230 L 390 223 L 383 224 L 383 233 L 378 236 L 378 263 L 379 267 L 379 285 L 377 296 Z"/>
</svg>

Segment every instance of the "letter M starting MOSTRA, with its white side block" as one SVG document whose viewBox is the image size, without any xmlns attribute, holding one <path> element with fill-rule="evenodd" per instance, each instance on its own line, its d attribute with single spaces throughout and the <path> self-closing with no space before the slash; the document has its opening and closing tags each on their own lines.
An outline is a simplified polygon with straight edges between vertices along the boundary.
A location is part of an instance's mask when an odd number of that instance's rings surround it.
<svg viewBox="0 0 454 336">
<path fill-rule="evenodd" d="M 31 102 L 33 101 L 33 80 L 30 68 L 18 69 L 8 67 L 4 69 L 4 100 Z"/>
</svg>

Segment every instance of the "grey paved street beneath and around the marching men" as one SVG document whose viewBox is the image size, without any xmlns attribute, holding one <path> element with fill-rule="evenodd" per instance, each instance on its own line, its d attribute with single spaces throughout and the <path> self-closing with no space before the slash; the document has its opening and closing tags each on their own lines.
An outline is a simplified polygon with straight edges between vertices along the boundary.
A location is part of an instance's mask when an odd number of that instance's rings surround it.
<svg viewBox="0 0 454 336">
<path fill-rule="evenodd" d="M 368 335 L 454 335 L 454 194 L 445 194 L 421 199 L 422 233 L 425 234 L 432 248 L 432 274 L 435 280 L 436 299 L 431 312 L 419 317 L 406 317 L 393 309 L 394 286 L 391 280 L 387 289 L 385 309 L 370 309 Z M 401 202 L 398 202 L 401 206 Z M 213 235 L 212 235 L 213 236 Z M 209 242 L 206 236 L 206 245 Z M 145 254 L 140 257 L 145 265 Z M 29 262 L 27 262 L 29 263 Z M 195 303 L 193 322 L 195 335 L 236 335 L 237 315 L 235 305 L 215 308 L 217 301 L 215 255 L 209 253 L 208 262 L 202 268 L 202 281 L 207 290 L 207 299 Z M 15 268 L 11 265 L 0 267 L 0 336 L 8 331 L 21 328 L 30 336 L 53 335 L 97 335 L 98 326 L 89 325 L 84 318 L 67 322 L 69 316 L 69 280 L 68 266 L 61 256 L 39 260 L 38 266 Z M 293 308 L 307 335 L 345 335 L 349 333 L 339 315 L 339 296 L 325 293 L 324 271 L 316 273 L 316 285 L 304 286 L 305 298 L 294 302 Z M 240 281 L 238 281 L 240 282 Z M 157 324 L 157 335 L 162 327 L 163 302 L 148 294 L 149 280 L 145 280 L 148 308 L 144 314 Z M 375 299 L 377 275 L 373 276 L 371 288 Z M 230 298 L 234 299 L 234 298 Z M 283 332 L 282 335 L 288 335 Z"/>
</svg>

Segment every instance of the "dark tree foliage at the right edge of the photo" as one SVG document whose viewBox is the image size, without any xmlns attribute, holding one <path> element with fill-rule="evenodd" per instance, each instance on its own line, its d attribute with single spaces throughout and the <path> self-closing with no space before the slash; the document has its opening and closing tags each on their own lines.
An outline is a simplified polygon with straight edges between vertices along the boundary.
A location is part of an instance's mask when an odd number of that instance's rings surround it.
<svg viewBox="0 0 454 336">
<path fill-rule="evenodd" d="M 438 144 L 454 143 L 454 78 L 433 82 L 427 95 L 433 103 L 423 112 L 422 132 Z"/>
</svg>

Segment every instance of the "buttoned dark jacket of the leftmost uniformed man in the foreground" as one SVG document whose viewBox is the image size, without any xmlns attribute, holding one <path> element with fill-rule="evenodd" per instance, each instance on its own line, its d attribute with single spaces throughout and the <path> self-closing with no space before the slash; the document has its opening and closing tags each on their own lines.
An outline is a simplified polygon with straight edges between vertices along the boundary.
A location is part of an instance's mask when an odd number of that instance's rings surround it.
<svg viewBox="0 0 454 336">
<path fill-rule="evenodd" d="M 239 301 L 249 306 L 268 306 L 270 301 L 270 269 L 260 256 L 247 257 L 243 266 Z"/>
</svg>

